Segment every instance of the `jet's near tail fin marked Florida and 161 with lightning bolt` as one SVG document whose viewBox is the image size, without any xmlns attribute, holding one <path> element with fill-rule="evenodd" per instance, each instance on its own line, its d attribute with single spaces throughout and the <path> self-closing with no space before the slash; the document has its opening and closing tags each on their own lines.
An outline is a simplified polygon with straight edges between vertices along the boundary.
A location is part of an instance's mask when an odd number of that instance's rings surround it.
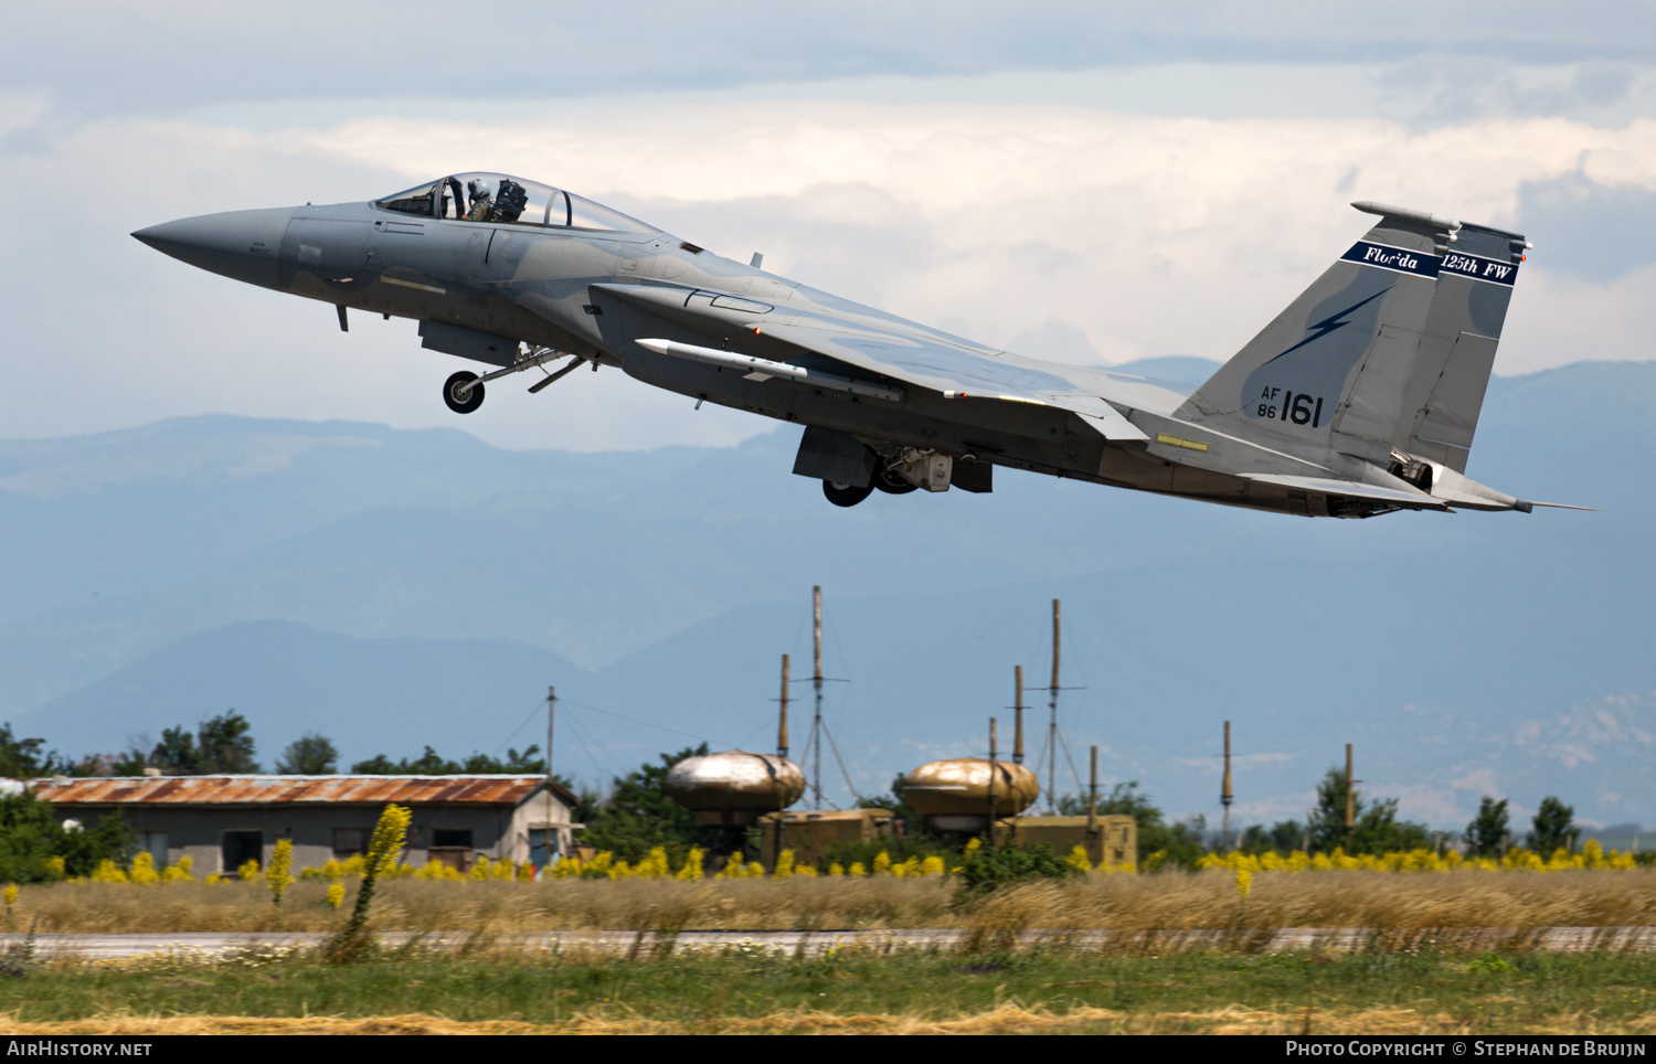
<svg viewBox="0 0 1656 1064">
<path fill-rule="evenodd" d="M 1391 462 L 1442 263 L 1459 222 L 1381 204 L 1368 233 L 1225 362 L 1177 417 L 1318 458 Z"/>
</svg>

